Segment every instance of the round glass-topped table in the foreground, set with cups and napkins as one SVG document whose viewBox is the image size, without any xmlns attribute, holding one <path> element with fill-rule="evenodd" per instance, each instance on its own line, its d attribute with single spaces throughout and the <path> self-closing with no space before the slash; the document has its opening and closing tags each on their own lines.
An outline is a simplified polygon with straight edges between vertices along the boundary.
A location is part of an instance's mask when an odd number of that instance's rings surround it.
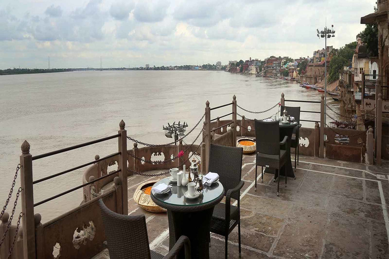
<svg viewBox="0 0 389 259">
<path fill-rule="evenodd" d="M 190 240 L 191 258 L 209 258 L 209 234 L 212 213 L 215 205 L 224 197 L 224 188 L 220 182 L 204 186 L 202 194 L 196 199 L 184 197 L 188 190 L 186 186 L 177 186 L 168 178 L 154 184 L 172 185 L 172 190 L 166 194 L 151 191 L 151 199 L 155 204 L 165 208 L 169 220 L 169 249 L 172 249 L 180 236 Z M 181 252 L 177 258 L 184 258 Z"/>
</svg>

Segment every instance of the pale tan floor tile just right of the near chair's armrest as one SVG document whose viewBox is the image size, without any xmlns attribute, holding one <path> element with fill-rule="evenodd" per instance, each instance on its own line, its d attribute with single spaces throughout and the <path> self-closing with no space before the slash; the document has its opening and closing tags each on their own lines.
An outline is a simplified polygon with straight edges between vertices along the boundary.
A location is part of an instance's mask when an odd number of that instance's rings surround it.
<svg viewBox="0 0 389 259">
<path fill-rule="evenodd" d="M 241 200 L 241 208 L 253 212 L 285 219 L 289 209 L 293 206 L 290 202 L 281 199 L 269 199 L 265 197 L 246 195 Z"/>
</svg>

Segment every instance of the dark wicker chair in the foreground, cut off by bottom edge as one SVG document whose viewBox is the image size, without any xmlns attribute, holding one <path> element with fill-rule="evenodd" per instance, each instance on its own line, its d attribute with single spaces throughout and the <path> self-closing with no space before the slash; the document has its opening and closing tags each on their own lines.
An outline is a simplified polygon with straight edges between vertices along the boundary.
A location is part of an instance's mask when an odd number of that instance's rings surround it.
<svg viewBox="0 0 389 259">
<path fill-rule="evenodd" d="M 150 250 L 144 215 L 129 216 L 111 211 L 99 201 L 110 259 L 173 259 L 185 247 L 190 259 L 190 241 L 181 236 L 166 256 Z"/>
</svg>

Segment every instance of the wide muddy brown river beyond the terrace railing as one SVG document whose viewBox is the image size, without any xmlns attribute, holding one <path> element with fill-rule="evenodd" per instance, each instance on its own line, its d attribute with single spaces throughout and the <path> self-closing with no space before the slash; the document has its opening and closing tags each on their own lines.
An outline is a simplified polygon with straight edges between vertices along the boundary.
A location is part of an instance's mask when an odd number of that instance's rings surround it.
<svg viewBox="0 0 389 259">
<path fill-rule="evenodd" d="M 119 122 L 127 134 L 147 143 L 168 143 L 162 130 L 167 122 L 186 121 L 194 126 L 211 107 L 232 101 L 252 111 L 262 111 L 285 99 L 317 100 L 317 91 L 300 88 L 294 81 L 231 74 L 223 71 L 80 71 L 0 76 L 0 206 L 4 205 L 24 140 L 30 153 L 38 155 L 94 139 L 114 135 Z M 335 108 L 336 103 L 328 98 Z M 287 105 L 293 105 L 287 103 Z M 295 104 L 298 105 L 298 104 Z M 320 111 L 319 104 L 301 104 L 303 110 Z M 211 118 L 231 112 L 231 106 L 211 112 Z M 248 118 L 274 114 L 238 113 Z M 319 114 L 304 113 L 303 119 L 319 120 Z M 239 118 L 239 117 L 238 117 Z M 313 127 L 313 123 L 302 123 Z M 200 126 L 202 123 L 200 124 Z M 191 142 L 200 127 L 187 137 Z M 133 143 L 128 141 L 128 148 Z M 116 139 L 35 160 L 34 180 L 118 151 Z M 82 184 L 85 169 L 36 184 L 34 201 L 49 198 Z M 20 186 L 20 178 L 17 187 Z M 11 211 L 14 197 L 7 211 Z M 46 222 L 79 205 L 82 189 L 35 207 Z M 21 202 L 19 202 L 21 203 Z M 19 208 L 18 208 L 19 209 Z"/>
</svg>

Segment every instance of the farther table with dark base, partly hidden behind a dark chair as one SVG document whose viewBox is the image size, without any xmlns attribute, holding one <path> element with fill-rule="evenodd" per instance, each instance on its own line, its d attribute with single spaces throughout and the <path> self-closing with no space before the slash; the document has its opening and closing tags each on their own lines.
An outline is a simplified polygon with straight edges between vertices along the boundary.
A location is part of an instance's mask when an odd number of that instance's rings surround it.
<svg viewBox="0 0 389 259">
<path fill-rule="evenodd" d="M 280 125 L 280 141 L 282 141 L 285 136 L 288 136 L 288 147 L 289 147 L 288 150 L 286 150 L 288 152 L 287 161 L 286 161 L 285 165 L 283 167 L 281 167 L 280 175 L 295 178 L 293 166 L 292 166 L 292 161 L 290 159 L 290 144 L 292 142 L 293 130 L 296 126 L 298 126 L 298 123 L 295 121 L 291 121 L 291 122 L 288 121 L 287 123 L 280 121 L 279 125 Z M 264 170 L 264 172 L 267 172 L 269 174 L 275 174 L 274 179 L 277 179 L 277 177 L 278 177 L 276 175 L 275 169 L 266 168 Z"/>
</svg>

